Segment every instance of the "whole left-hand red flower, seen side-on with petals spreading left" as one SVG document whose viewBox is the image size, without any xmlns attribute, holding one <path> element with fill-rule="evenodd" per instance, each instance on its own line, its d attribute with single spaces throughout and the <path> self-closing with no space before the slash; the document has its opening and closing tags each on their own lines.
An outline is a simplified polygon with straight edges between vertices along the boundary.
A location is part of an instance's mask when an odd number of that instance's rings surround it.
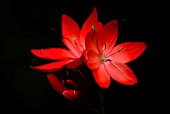
<svg viewBox="0 0 170 114">
<path fill-rule="evenodd" d="M 31 67 L 45 72 L 54 72 L 61 69 L 63 66 L 66 66 L 67 68 L 78 67 L 84 61 L 83 55 L 85 52 L 86 34 L 94 27 L 94 25 L 97 25 L 97 28 L 102 26 L 102 24 L 98 22 L 96 8 L 93 9 L 90 16 L 84 22 L 81 30 L 71 17 L 65 14 L 62 15 L 62 41 L 68 49 L 32 49 L 31 52 L 35 56 L 47 60 L 56 60 L 56 62 Z"/>
</svg>

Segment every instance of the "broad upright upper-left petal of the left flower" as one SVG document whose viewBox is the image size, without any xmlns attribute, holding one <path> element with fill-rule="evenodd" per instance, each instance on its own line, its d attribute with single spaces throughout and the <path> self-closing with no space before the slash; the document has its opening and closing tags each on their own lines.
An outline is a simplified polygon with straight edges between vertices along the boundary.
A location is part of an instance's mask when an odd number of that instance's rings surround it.
<svg viewBox="0 0 170 114">
<path fill-rule="evenodd" d="M 72 38 L 79 34 L 80 29 L 78 24 L 69 16 L 62 15 L 62 35 L 66 38 Z"/>
</svg>

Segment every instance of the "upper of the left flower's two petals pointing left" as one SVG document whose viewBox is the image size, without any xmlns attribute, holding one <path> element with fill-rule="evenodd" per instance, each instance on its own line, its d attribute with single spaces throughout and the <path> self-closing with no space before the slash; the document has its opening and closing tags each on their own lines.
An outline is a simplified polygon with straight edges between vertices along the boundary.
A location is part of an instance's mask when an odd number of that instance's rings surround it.
<svg viewBox="0 0 170 114">
<path fill-rule="evenodd" d="M 32 49 L 31 52 L 34 55 L 47 60 L 75 58 L 68 50 L 62 48 Z"/>
</svg>

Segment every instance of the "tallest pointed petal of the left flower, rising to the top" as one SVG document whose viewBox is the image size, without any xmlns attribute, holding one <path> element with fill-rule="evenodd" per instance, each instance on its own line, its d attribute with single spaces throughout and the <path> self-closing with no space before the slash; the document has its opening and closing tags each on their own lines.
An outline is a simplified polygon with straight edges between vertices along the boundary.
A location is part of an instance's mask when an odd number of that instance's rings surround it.
<svg viewBox="0 0 170 114">
<path fill-rule="evenodd" d="M 81 33 L 80 33 L 80 43 L 85 46 L 86 34 L 92 29 L 92 24 L 96 24 L 98 21 L 96 8 L 93 9 L 90 16 L 84 22 Z"/>
</svg>

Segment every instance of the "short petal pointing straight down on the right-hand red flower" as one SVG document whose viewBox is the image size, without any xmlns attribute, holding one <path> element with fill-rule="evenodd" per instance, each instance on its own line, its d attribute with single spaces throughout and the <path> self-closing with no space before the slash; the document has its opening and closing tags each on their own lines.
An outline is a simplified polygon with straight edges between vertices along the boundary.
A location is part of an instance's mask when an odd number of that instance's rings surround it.
<svg viewBox="0 0 170 114">
<path fill-rule="evenodd" d="M 101 88 L 108 88 L 110 85 L 110 76 L 107 73 L 104 64 L 101 64 L 97 70 L 93 71 L 95 81 Z"/>
</svg>

